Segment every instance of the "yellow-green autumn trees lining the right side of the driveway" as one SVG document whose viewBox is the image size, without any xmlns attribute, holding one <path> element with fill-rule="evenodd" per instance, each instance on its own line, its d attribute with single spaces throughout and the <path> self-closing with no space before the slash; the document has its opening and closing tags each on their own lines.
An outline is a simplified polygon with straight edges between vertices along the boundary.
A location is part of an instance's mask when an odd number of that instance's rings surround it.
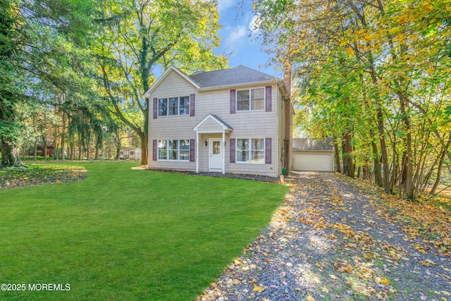
<svg viewBox="0 0 451 301">
<path fill-rule="evenodd" d="M 266 48 L 294 70 L 296 125 L 335 138 L 338 170 L 409 198 L 430 183 L 435 191 L 451 172 L 451 1 L 260 0 L 254 9 Z"/>
</svg>

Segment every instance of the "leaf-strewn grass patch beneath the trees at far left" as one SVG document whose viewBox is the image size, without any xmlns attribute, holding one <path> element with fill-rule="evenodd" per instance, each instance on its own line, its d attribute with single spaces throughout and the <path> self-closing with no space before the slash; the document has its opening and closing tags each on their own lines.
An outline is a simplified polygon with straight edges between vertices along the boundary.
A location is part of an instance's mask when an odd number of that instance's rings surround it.
<svg viewBox="0 0 451 301">
<path fill-rule="evenodd" d="M 0 189 L 67 183 L 85 178 L 87 171 L 81 166 L 29 164 L 26 167 L 0 169 Z"/>
</svg>

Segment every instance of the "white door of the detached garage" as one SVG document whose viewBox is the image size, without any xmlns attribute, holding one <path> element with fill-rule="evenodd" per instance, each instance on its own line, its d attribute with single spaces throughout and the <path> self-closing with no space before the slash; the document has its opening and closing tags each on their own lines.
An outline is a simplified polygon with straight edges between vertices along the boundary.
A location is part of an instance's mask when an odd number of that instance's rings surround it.
<svg viewBox="0 0 451 301">
<path fill-rule="evenodd" d="M 295 171 L 332 171 L 333 158 L 330 152 L 294 152 Z"/>
</svg>

